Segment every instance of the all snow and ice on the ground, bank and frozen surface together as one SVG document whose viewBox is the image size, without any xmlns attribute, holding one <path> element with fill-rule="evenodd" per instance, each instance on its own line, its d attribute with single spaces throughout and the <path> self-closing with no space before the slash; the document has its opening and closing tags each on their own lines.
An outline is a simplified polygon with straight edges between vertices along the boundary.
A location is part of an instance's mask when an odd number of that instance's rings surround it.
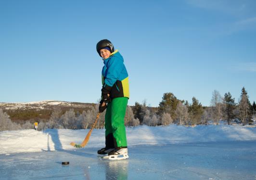
<svg viewBox="0 0 256 180">
<path fill-rule="evenodd" d="M 130 158 L 114 162 L 96 158 L 104 130 L 93 130 L 85 148 L 69 145 L 82 142 L 88 131 L 0 132 L 1 179 L 256 179 L 254 126 L 127 128 Z"/>
</svg>

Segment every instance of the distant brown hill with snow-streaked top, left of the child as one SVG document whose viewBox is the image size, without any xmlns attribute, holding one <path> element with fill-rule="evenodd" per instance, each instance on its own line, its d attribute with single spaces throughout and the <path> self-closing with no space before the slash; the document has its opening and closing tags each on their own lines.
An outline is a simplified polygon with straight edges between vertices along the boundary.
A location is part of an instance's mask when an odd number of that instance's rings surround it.
<svg viewBox="0 0 256 180">
<path fill-rule="evenodd" d="M 20 122 L 25 120 L 46 121 L 51 117 L 51 113 L 55 108 L 60 109 L 63 114 L 71 108 L 75 112 L 82 113 L 95 105 L 94 103 L 46 100 L 29 103 L 0 103 L 0 108 L 10 116 L 12 121 Z"/>
</svg>

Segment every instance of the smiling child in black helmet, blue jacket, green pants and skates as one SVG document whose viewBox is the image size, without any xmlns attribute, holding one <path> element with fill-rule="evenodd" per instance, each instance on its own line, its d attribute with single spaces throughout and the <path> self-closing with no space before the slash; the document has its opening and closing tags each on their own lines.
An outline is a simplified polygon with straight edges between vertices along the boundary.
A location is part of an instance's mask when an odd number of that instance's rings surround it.
<svg viewBox="0 0 256 180">
<path fill-rule="evenodd" d="M 109 159 L 128 158 L 124 118 L 129 98 L 128 72 L 124 59 L 113 44 L 103 39 L 97 43 L 97 52 L 104 60 L 102 68 L 102 100 L 99 111 L 105 109 L 105 147 L 98 156 Z M 102 107 L 102 103 L 107 105 Z"/>
</svg>

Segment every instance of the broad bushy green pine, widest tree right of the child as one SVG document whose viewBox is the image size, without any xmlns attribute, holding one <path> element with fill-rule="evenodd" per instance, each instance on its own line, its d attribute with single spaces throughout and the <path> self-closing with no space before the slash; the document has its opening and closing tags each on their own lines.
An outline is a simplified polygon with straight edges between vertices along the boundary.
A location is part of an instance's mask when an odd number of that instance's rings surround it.
<svg viewBox="0 0 256 180">
<path fill-rule="evenodd" d="M 176 119 L 176 108 L 179 100 L 172 93 L 165 93 L 162 97 L 162 101 L 159 103 L 158 115 L 162 115 L 164 112 L 169 113 L 173 119 Z"/>
</svg>

